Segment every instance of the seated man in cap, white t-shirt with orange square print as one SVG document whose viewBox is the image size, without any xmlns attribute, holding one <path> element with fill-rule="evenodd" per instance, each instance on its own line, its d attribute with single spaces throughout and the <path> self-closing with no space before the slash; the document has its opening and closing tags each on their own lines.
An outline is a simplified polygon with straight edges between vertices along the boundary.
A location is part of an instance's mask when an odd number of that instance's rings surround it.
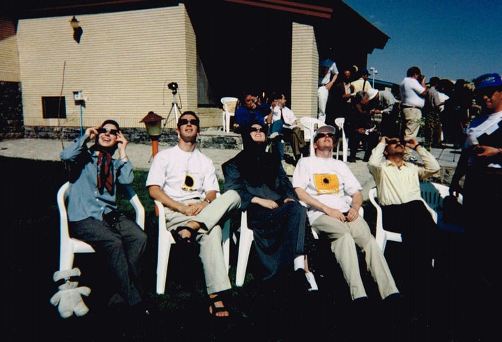
<svg viewBox="0 0 502 342">
<path fill-rule="evenodd" d="M 303 157 L 293 174 L 298 199 L 307 205 L 308 219 L 316 233 L 326 234 L 331 251 L 342 268 L 352 300 L 366 298 L 360 277 L 356 244 L 365 254 L 368 270 L 382 299 L 397 295 L 387 262 L 365 219 L 359 216 L 362 187 L 349 166 L 333 159 L 335 127 L 321 126 L 314 134 L 315 155 Z M 345 196 L 351 196 L 349 205 Z"/>
</svg>

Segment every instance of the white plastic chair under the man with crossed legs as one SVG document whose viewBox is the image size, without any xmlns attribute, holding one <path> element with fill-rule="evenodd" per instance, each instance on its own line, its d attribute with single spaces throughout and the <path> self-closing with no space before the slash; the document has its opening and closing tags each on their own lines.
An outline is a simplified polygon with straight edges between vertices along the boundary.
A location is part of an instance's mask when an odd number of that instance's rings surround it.
<svg viewBox="0 0 502 342">
<path fill-rule="evenodd" d="M 219 193 L 218 193 L 219 195 Z M 169 263 L 169 254 L 171 253 L 171 244 L 176 243 L 167 230 L 165 221 L 164 205 L 159 201 L 154 201 L 158 209 L 158 252 L 157 252 L 157 284 L 155 290 L 158 295 L 165 293 L 165 284 L 167 279 L 167 265 Z M 223 255 L 225 256 L 225 265 L 227 265 L 227 273 L 229 270 L 230 261 L 230 220 L 225 221 L 222 227 L 222 244 Z"/>
</svg>

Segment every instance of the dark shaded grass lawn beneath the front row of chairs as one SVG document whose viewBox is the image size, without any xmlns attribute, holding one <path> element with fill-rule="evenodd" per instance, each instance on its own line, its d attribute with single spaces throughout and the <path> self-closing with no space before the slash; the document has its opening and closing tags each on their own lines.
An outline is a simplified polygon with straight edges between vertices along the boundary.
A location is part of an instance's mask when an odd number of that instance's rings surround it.
<svg viewBox="0 0 502 342">
<path fill-rule="evenodd" d="M 66 182 L 62 162 L 40 162 L 0 157 L 3 180 L 7 240 L 8 297 L 7 341 L 120 341 L 133 325 L 128 316 L 103 304 L 107 272 L 94 254 L 77 254 L 75 267 L 82 271 L 81 286 L 92 290 L 84 302 L 91 310 L 86 316 L 59 317 L 49 302 L 56 293 L 52 275 L 59 267 L 59 212 L 56 192 Z M 351 302 L 349 289 L 330 254 L 326 241 L 319 240 L 312 260 L 320 290 L 297 293 L 291 274 L 272 281 L 259 280 L 260 268 L 252 247 L 248 272 L 242 288 L 231 290 L 231 319 L 220 322 L 208 317 L 204 278 L 200 261 L 190 251 L 172 247 L 165 295 L 155 294 L 157 264 L 157 220 L 153 201 L 144 187 L 146 171 L 135 171 L 133 188 L 146 210 L 145 232 L 149 243 L 144 254 L 144 288 L 153 303 L 152 315 L 144 322 L 137 339 L 143 341 L 462 341 L 466 308 L 462 302 L 463 235 L 443 233 L 445 256 L 439 270 L 434 311 L 446 315 L 438 325 L 427 326 L 427 318 L 409 312 L 407 300 L 424 300 L 419 294 L 402 293 L 398 303 L 382 302 L 370 274 L 362 272 L 370 297 L 364 304 Z M 120 202 L 132 215 L 127 201 Z M 374 228 L 375 212 L 365 203 L 365 218 Z M 238 217 L 232 226 L 238 226 Z M 390 242 L 386 256 L 400 287 L 400 244 Z M 236 246 L 231 247 L 230 279 L 235 280 Z M 361 258 L 361 270 L 365 270 Z M 401 266 L 401 267 L 400 267 Z M 399 270 L 399 272 L 398 272 Z M 277 288 L 286 290 L 278 291 Z M 418 297 L 416 297 L 418 296 Z M 301 298 L 299 301 L 298 298 Z M 299 303 L 299 304 L 298 304 Z"/>
</svg>

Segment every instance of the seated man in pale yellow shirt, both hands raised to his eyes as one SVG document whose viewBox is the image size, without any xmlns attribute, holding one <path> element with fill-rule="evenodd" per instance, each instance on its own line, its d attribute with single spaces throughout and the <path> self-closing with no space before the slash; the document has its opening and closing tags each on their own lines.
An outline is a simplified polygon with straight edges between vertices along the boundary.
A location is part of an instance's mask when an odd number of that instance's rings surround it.
<svg viewBox="0 0 502 342">
<path fill-rule="evenodd" d="M 405 146 L 416 150 L 423 166 L 403 160 Z M 434 244 L 439 228 L 420 196 L 420 180 L 439 171 L 440 166 L 416 139 L 405 142 L 388 137 L 381 137 L 367 166 L 377 185 L 383 227 L 402 236 L 402 255 L 396 258 L 395 274 L 404 281 L 403 288 L 400 286 L 403 299 L 409 301 L 413 315 L 433 323 L 439 317 L 432 310 L 438 292 L 432 260 L 437 266 Z"/>
</svg>

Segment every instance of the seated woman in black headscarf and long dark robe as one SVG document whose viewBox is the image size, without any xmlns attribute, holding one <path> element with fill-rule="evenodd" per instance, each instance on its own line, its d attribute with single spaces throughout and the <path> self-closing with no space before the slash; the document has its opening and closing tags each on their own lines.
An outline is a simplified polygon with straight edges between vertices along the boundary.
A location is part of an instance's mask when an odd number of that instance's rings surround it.
<svg viewBox="0 0 502 342">
<path fill-rule="evenodd" d="M 317 290 L 313 274 L 305 271 L 307 210 L 298 201 L 277 150 L 266 153 L 266 133 L 267 126 L 257 122 L 241 132 L 243 151 L 222 165 L 225 190 L 236 190 L 241 196 L 241 209 L 247 210 L 257 254 L 265 269 L 263 279 L 293 265 L 305 288 Z"/>
</svg>

